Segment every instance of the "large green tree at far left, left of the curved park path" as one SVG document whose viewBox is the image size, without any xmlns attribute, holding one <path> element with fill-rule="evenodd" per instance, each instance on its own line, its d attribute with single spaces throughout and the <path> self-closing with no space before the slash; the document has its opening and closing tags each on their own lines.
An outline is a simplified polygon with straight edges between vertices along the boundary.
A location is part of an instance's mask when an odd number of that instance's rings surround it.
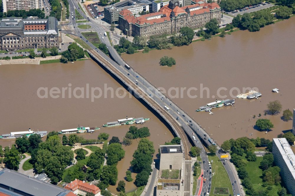
<svg viewBox="0 0 295 196">
<path fill-rule="evenodd" d="M 19 151 L 15 147 L 12 147 L 10 150 L 6 150 L 3 160 L 3 162 L 5 163 L 5 167 L 10 170 L 18 170 L 20 163 L 19 155 Z"/>
</svg>

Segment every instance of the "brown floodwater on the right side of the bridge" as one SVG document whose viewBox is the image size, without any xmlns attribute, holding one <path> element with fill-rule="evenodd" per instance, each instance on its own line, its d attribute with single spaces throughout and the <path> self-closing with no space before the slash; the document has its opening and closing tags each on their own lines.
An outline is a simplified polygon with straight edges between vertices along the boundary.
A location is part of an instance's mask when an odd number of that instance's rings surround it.
<svg viewBox="0 0 295 196">
<path fill-rule="evenodd" d="M 282 113 L 275 116 L 264 116 L 264 110 L 270 101 L 279 100 L 283 110 L 295 107 L 294 97 L 294 31 L 295 17 L 261 28 L 258 32 L 237 31 L 225 38 L 213 37 L 211 40 L 197 41 L 189 46 L 173 47 L 171 50 L 152 50 L 148 54 L 141 52 L 122 55 L 123 59 L 137 72 L 150 81 L 155 87 L 168 89 L 186 87 L 183 98 L 172 100 L 198 122 L 220 145 L 224 140 L 238 137 L 265 137 L 272 139 L 282 131 L 292 129 L 292 122 L 281 120 Z M 163 56 L 173 57 L 176 65 L 162 67 L 159 65 Z M 202 86 L 201 86 L 202 85 Z M 189 98 L 187 89 L 197 98 Z M 207 91 L 200 89 L 206 87 Z M 262 97 L 258 99 L 237 99 L 240 94 L 233 90 L 236 99 L 235 107 L 227 106 L 212 109 L 209 112 L 195 112 L 200 106 L 230 99 L 230 89 L 242 92 L 243 87 L 257 87 Z M 271 92 L 280 89 L 280 93 Z M 203 92 L 203 98 L 200 98 Z M 166 93 L 166 94 L 167 94 Z M 175 90 L 171 91 L 175 95 Z M 179 95 L 180 97 L 181 95 Z M 171 97 L 171 96 L 168 96 Z M 170 108 L 173 106 L 170 106 Z M 272 131 L 260 132 L 253 128 L 259 118 L 268 118 L 273 122 Z M 253 119 L 255 115 L 255 119 Z"/>
</svg>

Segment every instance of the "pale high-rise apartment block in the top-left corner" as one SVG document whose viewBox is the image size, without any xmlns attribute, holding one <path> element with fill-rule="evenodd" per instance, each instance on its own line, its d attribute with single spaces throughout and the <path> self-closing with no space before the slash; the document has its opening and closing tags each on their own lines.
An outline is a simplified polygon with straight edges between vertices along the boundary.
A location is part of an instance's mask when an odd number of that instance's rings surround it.
<svg viewBox="0 0 295 196">
<path fill-rule="evenodd" d="M 2 4 L 3 12 L 20 9 L 26 11 L 29 11 L 30 9 L 42 9 L 42 0 L 3 0 Z"/>
</svg>

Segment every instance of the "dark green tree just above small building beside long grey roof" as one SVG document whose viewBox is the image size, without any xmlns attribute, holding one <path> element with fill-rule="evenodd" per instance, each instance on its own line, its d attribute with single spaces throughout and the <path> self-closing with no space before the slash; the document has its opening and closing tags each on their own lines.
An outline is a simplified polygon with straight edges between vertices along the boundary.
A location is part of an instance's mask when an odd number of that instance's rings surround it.
<svg viewBox="0 0 295 196">
<path fill-rule="evenodd" d="M 50 177 L 52 184 L 56 185 L 63 177 L 64 167 L 55 157 L 51 157 L 48 162 L 45 173 Z"/>
</svg>

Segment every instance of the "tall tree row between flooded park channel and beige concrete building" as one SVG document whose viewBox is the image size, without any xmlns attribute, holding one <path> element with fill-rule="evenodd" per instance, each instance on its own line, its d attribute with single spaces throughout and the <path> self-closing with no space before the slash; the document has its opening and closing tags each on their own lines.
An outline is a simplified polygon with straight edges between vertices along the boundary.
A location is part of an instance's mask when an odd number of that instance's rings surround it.
<svg viewBox="0 0 295 196">
<path fill-rule="evenodd" d="M 137 173 L 134 182 L 137 187 L 146 185 L 148 183 L 148 178 L 150 172 L 152 171 L 151 164 L 153 161 L 152 155 L 154 152 L 155 149 L 153 142 L 143 138 L 138 143 L 137 150 L 135 150 L 133 153 L 133 160 L 130 162 L 130 164 L 133 171 Z"/>
</svg>

